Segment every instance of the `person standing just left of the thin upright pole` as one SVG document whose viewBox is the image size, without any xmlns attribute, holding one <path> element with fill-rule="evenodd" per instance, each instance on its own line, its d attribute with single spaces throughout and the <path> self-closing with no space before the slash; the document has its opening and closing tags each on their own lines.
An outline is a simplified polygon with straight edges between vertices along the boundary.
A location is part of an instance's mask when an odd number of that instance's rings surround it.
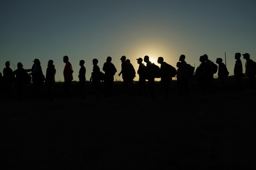
<svg viewBox="0 0 256 170">
<path fill-rule="evenodd" d="M 217 58 L 216 63 L 218 66 L 218 84 L 221 86 L 221 91 L 226 92 L 226 79 L 227 79 L 227 67 L 222 63 L 222 58 Z"/>
</svg>

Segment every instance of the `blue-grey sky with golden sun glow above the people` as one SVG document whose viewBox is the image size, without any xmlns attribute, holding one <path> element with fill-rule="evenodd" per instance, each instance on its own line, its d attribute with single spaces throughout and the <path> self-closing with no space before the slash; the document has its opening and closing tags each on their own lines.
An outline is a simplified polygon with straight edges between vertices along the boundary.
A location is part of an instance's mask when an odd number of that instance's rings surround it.
<svg viewBox="0 0 256 170">
<path fill-rule="evenodd" d="M 18 62 L 31 69 L 38 58 L 45 75 L 53 60 L 56 81 L 64 81 L 67 55 L 74 81 L 79 81 L 80 60 L 89 80 L 92 60 L 98 59 L 102 71 L 110 56 L 118 70 L 115 80 L 123 81 L 118 76 L 122 55 L 137 72 L 136 58 L 145 55 L 157 65 L 163 57 L 174 67 L 185 55 L 197 68 L 201 55 L 225 63 L 226 53 L 233 75 L 236 52 L 256 61 L 255 18 L 255 0 L 0 0 L 0 72 L 6 61 L 13 70 Z M 244 65 L 243 56 L 241 61 Z"/>
</svg>

